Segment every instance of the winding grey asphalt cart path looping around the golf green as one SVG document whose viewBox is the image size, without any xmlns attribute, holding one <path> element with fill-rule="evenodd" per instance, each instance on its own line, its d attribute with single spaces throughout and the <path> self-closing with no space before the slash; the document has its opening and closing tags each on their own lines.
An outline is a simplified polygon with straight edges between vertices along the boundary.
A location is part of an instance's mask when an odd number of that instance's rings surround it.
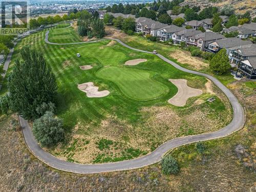
<svg viewBox="0 0 256 192">
<path fill-rule="evenodd" d="M 75 42 L 75 43 L 70 43 L 70 44 L 57 44 L 57 43 L 49 42 L 48 34 L 49 34 L 49 31 L 47 31 L 47 33 L 46 33 L 45 41 L 47 44 L 52 44 L 52 45 L 87 44 L 87 43 L 99 41 L 99 40 L 94 40 L 94 41 L 90 41 L 90 42 Z M 104 39 L 100 39 L 100 40 L 104 40 Z M 126 48 L 129 48 L 129 49 L 132 49 L 135 51 L 152 54 L 151 52 L 132 48 L 132 47 L 124 44 L 119 39 L 113 39 L 113 40 L 116 40 L 117 42 L 119 42 L 119 44 L 123 45 Z M 244 110 L 243 110 L 242 106 L 240 105 L 240 103 L 238 102 L 238 99 L 218 79 L 216 79 L 215 77 L 212 77 L 210 75 L 207 75 L 207 74 L 203 74 L 200 72 L 191 71 L 191 70 L 182 68 L 179 65 L 177 65 L 177 63 L 165 58 L 164 56 L 162 56 L 160 54 L 157 54 L 157 56 L 181 71 L 195 74 L 195 75 L 201 75 L 201 76 L 204 76 L 204 77 L 210 79 L 212 82 L 214 82 L 216 84 L 216 86 L 220 90 L 222 90 L 223 93 L 228 97 L 228 99 L 232 105 L 232 108 L 233 108 L 232 121 L 227 126 L 223 127 L 221 130 L 218 130 L 218 131 L 215 131 L 212 133 L 186 136 L 186 137 L 180 137 L 180 138 L 168 140 L 165 143 L 161 144 L 158 148 L 156 148 L 156 150 L 154 152 L 152 152 L 151 154 L 148 154 L 146 156 L 143 156 L 143 157 L 140 157 L 137 159 L 126 160 L 126 161 L 115 162 L 115 163 L 104 163 L 104 164 L 77 164 L 77 163 L 71 163 L 71 162 L 60 160 L 60 159 L 52 156 L 51 154 L 45 152 L 44 150 L 42 150 L 42 148 L 37 144 L 37 142 L 32 134 L 32 131 L 31 131 L 28 121 L 23 119 L 22 117 L 19 117 L 20 125 L 22 127 L 22 132 L 24 135 L 24 140 L 25 140 L 29 150 L 31 151 L 31 153 L 33 155 L 35 155 L 38 159 L 40 159 L 42 162 L 44 162 L 54 168 L 57 168 L 59 170 L 64 170 L 67 172 L 80 173 L 80 174 L 113 172 L 116 170 L 135 169 L 135 168 L 147 166 L 147 165 L 159 162 L 161 160 L 161 158 L 163 157 L 163 155 L 174 147 L 178 147 L 181 145 L 194 143 L 194 142 L 198 142 L 198 141 L 206 141 L 206 140 L 225 137 L 225 136 L 232 134 L 233 132 L 236 132 L 236 131 L 242 129 L 244 122 L 245 122 Z"/>
</svg>

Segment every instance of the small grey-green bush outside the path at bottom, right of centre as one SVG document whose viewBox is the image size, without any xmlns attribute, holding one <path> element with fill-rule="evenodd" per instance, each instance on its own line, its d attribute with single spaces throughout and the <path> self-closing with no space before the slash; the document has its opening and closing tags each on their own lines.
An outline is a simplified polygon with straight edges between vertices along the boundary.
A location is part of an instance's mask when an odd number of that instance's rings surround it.
<svg viewBox="0 0 256 192">
<path fill-rule="evenodd" d="M 169 175 L 179 173 L 180 167 L 178 162 L 172 156 L 165 156 L 160 163 L 162 166 L 163 174 Z"/>
</svg>

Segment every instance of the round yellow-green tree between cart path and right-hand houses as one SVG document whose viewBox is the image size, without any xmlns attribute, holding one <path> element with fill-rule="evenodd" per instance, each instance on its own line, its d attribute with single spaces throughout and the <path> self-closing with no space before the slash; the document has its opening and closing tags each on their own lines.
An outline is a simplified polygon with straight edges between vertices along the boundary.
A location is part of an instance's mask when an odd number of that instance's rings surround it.
<svg viewBox="0 0 256 192">
<path fill-rule="evenodd" d="M 219 74 L 223 74 L 230 70 L 229 59 L 226 54 L 226 49 L 221 49 L 215 56 L 210 60 L 210 69 Z"/>
</svg>

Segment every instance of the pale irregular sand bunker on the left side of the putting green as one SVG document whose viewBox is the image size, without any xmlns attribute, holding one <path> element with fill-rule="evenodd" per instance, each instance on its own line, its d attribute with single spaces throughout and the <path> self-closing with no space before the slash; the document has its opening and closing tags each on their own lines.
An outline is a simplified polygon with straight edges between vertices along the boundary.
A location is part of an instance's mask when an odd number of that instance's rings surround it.
<svg viewBox="0 0 256 192">
<path fill-rule="evenodd" d="M 93 85 L 93 82 L 86 82 L 78 84 L 77 88 L 82 92 L 85 92 L 87 97 L 105 97 L 110 94 L 108 90 L 98 91 L 98 87 Z"/>
</svg>

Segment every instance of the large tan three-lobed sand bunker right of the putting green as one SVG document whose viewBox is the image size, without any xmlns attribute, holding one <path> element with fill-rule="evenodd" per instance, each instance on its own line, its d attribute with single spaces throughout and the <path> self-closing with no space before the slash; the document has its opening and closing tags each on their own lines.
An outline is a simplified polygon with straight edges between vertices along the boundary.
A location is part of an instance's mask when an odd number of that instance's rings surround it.
<svg viewBox="0 0 256 192">
<path fill-rule="evenodd" d="M 168 100 L 168 103 L 175 106 L 184 106 L 188 98 L 196 97 L 203 93 L 202 90 L 188 87 L 186 79 L 169 79 L 169 81 L 178 88 L 178 93 Z"/>
</svg>

